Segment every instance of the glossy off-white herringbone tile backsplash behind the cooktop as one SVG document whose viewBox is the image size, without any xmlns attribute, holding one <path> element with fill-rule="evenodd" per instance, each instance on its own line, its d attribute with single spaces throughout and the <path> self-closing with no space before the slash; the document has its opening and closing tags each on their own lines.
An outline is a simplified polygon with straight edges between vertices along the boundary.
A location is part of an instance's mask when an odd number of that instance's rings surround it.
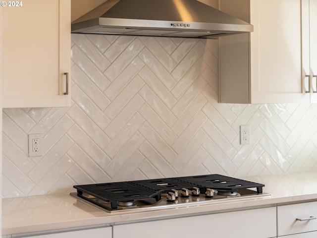
<svg viewBox="0 0 317 238">
<path fill-rule="evenodd" d="M 317 171 L 317 104 L 217 103 L 217 51 L 217 40 L 73 34 L 72 106 L 3 110 L 2 196 Z M 34 133 L 42 157 L 28 157 Z"/>
</svg>

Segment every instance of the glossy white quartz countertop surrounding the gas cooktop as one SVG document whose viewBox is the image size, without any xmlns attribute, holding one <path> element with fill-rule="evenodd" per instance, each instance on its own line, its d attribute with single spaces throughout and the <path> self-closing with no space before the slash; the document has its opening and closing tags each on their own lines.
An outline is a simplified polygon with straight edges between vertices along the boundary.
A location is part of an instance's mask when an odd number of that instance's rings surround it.
<svg viewBox="0 0 317 238">
<path fill-rule="evenodd" d="M 241 178 L 264 183 L 271 196 L 252 200 L 214 202 L 161 210 L 107 213 L 70 195 L 38 195 L 2 199 L 2 235 L 63 230 L 76 227 L 115 225 L 131 221 L 155 220 L 207 214 L 254 206 L 317 200 L 317 172 Z"/>
</svg>

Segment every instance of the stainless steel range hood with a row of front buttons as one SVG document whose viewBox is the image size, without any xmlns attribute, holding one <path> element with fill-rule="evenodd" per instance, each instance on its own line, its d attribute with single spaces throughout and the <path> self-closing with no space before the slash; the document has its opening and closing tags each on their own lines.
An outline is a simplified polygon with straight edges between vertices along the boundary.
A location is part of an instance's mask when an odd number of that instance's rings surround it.
<svg viewBox="0 0 317 238">
<path fill-rule="evenodd" d="M 215 38 L 253 25 L 198 0 L 108 0 L 72 22 L 72 33 Z"/>
</svg>

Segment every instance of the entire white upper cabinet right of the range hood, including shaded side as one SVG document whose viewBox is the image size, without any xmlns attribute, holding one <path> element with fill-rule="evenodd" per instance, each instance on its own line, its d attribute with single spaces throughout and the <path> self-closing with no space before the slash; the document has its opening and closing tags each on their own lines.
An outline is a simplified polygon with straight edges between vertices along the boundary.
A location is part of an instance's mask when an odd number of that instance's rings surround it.
<svg viewBox="0 0 317 238">
<path fill-rule="evenodd" d="M 254 25 L 252 33 L 219 39 L 220 103 L 317 102 L 316 4 L 220 1 L 221 10 Z"/>
</svg>

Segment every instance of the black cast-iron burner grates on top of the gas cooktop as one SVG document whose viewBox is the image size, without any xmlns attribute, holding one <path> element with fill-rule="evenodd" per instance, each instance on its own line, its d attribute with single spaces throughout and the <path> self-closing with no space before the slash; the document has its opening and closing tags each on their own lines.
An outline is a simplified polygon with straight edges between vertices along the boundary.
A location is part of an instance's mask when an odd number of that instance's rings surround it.
<svg viewBox="0 0 317 238">
<path fill-rule="evenodd" d="M 233 193 L 240 189 L 256 188 L 257 193 L 262 193 L 263 186 L 264 184 L 261 183 L 214 174 L 74 185 L 74 188 L 77 189 L 77 195 L 85 200 L 99 205 L 96 200 L 100 199 L 109 202 L 111 209 L 117 209 L 118 202 L 132 202 L 150 198 L 159 201 L 161 193 L 168 192 L 171 189 L 180 190 L 182 188 L 199 187 L 204 193 L 207 188 Z"/>
</svg>

